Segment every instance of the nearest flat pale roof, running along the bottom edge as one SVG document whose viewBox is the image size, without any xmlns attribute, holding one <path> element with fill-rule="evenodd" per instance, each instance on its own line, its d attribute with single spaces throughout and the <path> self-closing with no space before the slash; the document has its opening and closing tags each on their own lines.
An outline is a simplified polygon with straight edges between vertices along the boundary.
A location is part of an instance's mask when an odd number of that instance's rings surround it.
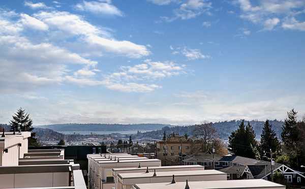
<svg viewBox="0 0 305 189">
<path fill-rule="evenodd" d="M 216 180 L 216 181 L 191 181 L 188 182 L 192 189 L 229 189 L 229 188 L 283 188 L 284 185 L 270 182 L 263 179 L 244 179 L 244 180 Z M 186 182 L 176 182 L 169 184 L 168 182 L 163 183 L 146 183 L 146 184 L 135 184 L 137 189 L 184 189 Z"/>
</svg>

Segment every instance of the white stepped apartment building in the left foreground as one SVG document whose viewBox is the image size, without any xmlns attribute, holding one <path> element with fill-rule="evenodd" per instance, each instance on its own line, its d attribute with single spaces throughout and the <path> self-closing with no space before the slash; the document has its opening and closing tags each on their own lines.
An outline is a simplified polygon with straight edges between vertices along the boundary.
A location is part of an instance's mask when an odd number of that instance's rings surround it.
<svg viewBox="0 0 305 189">
<path fill-rule="evenodd" d="M 28 150 L 30 132 L 0 135 L 0 188 L 76 188 L 86 184 L 73 160 L 64 160 L 63 149 Z"/>
</svg>

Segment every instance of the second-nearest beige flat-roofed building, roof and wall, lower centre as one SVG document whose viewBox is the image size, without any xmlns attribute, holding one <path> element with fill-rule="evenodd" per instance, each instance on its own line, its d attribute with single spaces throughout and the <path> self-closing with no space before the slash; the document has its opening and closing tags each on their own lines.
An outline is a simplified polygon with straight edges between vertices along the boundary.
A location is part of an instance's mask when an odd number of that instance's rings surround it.
<svg viewBox="0 0 305 189">
<path fill-rule="evenodd" d="M 166 172 L 142 172 L 142 173 L 119 173 L 116 189 L 131 189 L 135 184 L 226 180 L 227 174 L 216 170 L 192 170 L 192 171 L 166 171 Z"/>
</svg>

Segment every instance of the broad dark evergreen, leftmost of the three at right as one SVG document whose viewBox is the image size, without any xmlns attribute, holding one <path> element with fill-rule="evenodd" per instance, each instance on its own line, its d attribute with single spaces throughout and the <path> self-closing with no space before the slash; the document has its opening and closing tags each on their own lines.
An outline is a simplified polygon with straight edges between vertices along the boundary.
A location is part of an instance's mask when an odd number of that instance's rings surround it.
<svg viewBox="0 0 305 189">
<path fill-rule="evenodd" d="M 257 143 L 253 128 L 249 122 L 245 127 L 245 120 L 242 120 L 238 129 L 229 136 L 229 148 L 235 155 L 255 158 L 255 147 Z"/>
</svg>

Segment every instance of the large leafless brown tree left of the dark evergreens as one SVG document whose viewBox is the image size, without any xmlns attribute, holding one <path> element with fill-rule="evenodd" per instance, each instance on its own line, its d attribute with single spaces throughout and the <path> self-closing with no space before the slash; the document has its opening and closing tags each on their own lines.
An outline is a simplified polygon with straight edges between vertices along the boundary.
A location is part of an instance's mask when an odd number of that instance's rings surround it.
<svg viewBox="0 0 305 189">
<path fill-rule="evenodd" d="M 212 139 L 216 137 L 216 130 L 212 126 L 212 123 L 196 124 L 193 131 L 193 135 L 196 139 L 202 140 L 202 150 L 204 152 L 209 151 Z"/>
</svg>

